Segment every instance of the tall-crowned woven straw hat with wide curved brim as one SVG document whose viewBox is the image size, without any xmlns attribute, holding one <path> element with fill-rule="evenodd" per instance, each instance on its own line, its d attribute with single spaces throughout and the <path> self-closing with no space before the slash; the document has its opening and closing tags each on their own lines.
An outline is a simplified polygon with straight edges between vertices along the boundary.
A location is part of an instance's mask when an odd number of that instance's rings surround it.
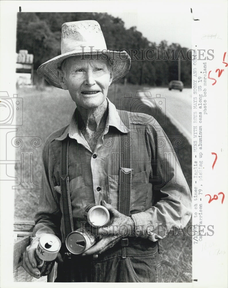
<svg viewBox="0 0 228 288">
<path fill-rule="evenodd" d="M 131 60 L 127 52 L 107 50 L 99 23 L 84 20 L 62 25 L 61 55 L 40 65 L 37 74 L 51 85 L 61 88 L 57 69 L 61 67 L 64 59 L 77 55 L 91 55 L 91 59 L 110 59 L 113 64 L 112 83 L 125 76 L 130 69 Z"/>
</svg>

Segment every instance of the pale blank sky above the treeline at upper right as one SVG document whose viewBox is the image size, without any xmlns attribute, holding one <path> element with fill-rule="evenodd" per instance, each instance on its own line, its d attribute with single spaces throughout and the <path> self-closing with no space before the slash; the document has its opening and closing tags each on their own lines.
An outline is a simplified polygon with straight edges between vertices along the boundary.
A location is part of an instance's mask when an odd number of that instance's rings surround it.
<svg viewBox="0 0 228 288">
<path fill-rule="evenodd" d="M 125 22 L 125 28 L 136 26 L 144 37 L 159 44 L 167 40 L 168 44 L 179 43 L 182 47 L 192 47 L 191 7 L 171 7 L 151 12 L 108 12 Z"/>
</svg>

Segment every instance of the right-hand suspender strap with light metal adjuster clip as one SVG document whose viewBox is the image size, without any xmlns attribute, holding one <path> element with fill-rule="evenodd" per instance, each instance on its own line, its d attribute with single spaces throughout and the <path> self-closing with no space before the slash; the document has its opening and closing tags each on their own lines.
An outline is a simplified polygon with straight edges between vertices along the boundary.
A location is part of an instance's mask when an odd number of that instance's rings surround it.
<svg viewBox="0 0 228 288">
<path fill-rule="evenodd" d="M 130 121 L 127 111 L 117 110 L 123 124 L 130 128 Z M 131 137 L 130 133 L 119 134 L 119 212 L 129 216 L 131 206 Z"/>
</svg>

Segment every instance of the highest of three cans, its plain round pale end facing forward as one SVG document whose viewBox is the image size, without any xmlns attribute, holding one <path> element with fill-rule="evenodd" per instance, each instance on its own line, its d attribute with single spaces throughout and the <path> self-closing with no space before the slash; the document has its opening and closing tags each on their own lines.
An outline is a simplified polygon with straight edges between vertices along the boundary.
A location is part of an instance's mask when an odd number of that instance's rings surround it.
<svg viewBox="0 0 228 288">
<path fill-rule="evenodd" d="M 89 204 L 83 211 L 82 215 L 86 222 L 93 227 L 104 226 L 109 223 L 110 215 L 107 208 L 101 205 Z"/>
</svg>

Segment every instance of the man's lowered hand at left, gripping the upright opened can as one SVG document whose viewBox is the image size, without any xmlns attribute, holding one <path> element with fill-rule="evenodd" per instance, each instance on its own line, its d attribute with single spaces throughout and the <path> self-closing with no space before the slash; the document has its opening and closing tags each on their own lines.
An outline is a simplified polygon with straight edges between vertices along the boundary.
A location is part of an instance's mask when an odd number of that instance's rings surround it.
<svg viewBox="0 0 228 288">
<path fill-rule="evenodd" d="M 39 243 L 40 236 L 35 237 L 32 240 L 32 243 L 30 246 L 26 248 L 26 251 L 23 253 L 23 260 L 22 260 L 22 267 L 28 274 L 30 274 L 32 277 L 35 277 L 37 279 L 40 278 L 40 271 L 38 268 L 36 268 L 37 263 L 35 259 L 35 251 Z M 61 254 L 59 253 L 56 260 L 57 263 L 63 262 L 63 259 L 61 257 Z"/>
</svg>

